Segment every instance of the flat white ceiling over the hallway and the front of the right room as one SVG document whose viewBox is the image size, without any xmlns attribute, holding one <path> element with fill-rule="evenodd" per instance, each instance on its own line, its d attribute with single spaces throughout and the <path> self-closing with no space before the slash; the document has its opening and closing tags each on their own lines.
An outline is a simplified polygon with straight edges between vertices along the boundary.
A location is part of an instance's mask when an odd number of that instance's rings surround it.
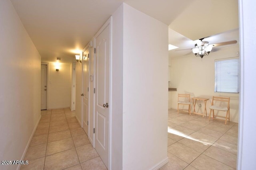
<svg viewBox="0 0 256 170">
<path fill-rule="evenodd" d="M 11 2 L 42 59 L 49 62 L 56 61 L 56 57 L 61 57 L 62 61 L 67 62 L 74 59 L 74 55 L 85 47 L 122 2 L 169 25 L 170 28 L 184 35 L 187 41 L 186 37 L 198 39 L 238 28 L 238 8 L 235 0 L 11 0 Z M 171 40 L 176 41 L 174 38 Z"/>
</svg>

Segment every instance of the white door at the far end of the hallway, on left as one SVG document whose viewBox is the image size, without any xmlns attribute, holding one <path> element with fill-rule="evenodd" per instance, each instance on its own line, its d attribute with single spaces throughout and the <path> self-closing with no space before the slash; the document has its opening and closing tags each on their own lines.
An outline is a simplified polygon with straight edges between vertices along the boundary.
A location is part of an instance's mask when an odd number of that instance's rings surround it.
<svg viewBox="0 0 256 170">
<path fill-rule="evenodd" d="M 47 109 L 47 65 L 41 64 L 41 110 Z"/>
</svg>

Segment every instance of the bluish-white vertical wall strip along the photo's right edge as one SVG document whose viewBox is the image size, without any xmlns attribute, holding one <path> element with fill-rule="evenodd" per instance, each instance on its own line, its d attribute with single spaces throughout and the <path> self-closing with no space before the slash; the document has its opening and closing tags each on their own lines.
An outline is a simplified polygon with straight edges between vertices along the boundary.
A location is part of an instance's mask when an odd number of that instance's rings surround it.
<svg viewBox="0 0 256 170">
<path fill-rule="evenodd" d="M 253 170 L 256 167 L 256 2 L 239 0 L 241 90 L 238 135 L 238 170 Z"/>
</svg>

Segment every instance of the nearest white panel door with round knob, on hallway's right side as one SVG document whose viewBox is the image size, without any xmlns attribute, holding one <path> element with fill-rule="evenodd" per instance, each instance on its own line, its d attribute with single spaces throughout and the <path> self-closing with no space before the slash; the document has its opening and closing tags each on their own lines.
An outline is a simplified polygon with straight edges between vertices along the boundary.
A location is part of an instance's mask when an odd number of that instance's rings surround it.
<svg viewBox="0 0 256 170">
<path fill-rule="evenodd" d="M 108 168 L 110 25 L 96 37 L 95 149 Z"/>
</svg>

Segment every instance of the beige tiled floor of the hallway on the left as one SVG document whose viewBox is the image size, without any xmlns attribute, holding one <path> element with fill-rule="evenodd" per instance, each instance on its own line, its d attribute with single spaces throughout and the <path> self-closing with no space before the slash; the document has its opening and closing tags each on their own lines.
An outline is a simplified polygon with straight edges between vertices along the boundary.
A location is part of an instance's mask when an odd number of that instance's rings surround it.
<svg viewBox="0 0 256 170">
<path fill-rule="evenodd" d="M 41 111 L 21 170 L 106 170 L 69 108 Z"/>
</svg>

